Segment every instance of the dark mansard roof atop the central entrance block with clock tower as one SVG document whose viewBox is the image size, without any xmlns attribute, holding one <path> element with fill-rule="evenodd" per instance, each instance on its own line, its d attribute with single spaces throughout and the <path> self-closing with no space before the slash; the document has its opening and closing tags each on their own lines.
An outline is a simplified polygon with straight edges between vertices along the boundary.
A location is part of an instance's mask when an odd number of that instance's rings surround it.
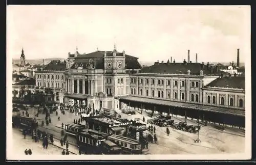
<svg viewBox="0 0 256 165">
<path fill-rule="evenodd" d="M 95 51 L 88 54 L 80 54 L 76 57 L 76 62 L 71 66 L 71 69 L 75 68 L 75 64 L 79 67 L 82 64 L 83 69 L 87 68 L 88 60 L 95 59 L 95 69 L 104 69 L 104 52 L 105 51 Z M 106 51 L 106 56 L 110 57 L 113 56 L 113 51 Z M 116 56 L 123 56 L 123 53 L 116 53 Z M 86 59 L 80 61 L 80 59 Z M 126 69 L 141 69 L 141 65 L 138 62 L 138 58 L 134 56 L 130 56 L 125 54 L 125 68 Z"/>
</svg>

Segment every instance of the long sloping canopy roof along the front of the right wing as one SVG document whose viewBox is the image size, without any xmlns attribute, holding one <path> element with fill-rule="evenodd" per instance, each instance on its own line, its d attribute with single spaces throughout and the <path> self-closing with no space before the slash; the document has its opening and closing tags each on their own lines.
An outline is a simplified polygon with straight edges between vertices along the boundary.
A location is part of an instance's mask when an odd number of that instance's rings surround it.
<svg viewBox="0 0 256 165">
<path fill-rule="evenodd" d="M 229 107 L 216 107 L 216 106 L 209 106 L 209 105 L 202 105 L 202 104 L 197 105 L 193 103 L 167 101 L 167 100 L 159 100 L 159 99 L 143 98 L 143 97 L 135 97 L 135 96 L 121 96 L 120 100 L 144 102 L 144 103 L 150 103 L 150 104 L 175 106 L 175 107 L 183 107 L 183 108 L 191 108 L 191 109 L 202 109 L 203 111 L 211 111 L 211 112 L 245 116 L 245 111 L 240 109 L 233 109 Z"/>
</svg>

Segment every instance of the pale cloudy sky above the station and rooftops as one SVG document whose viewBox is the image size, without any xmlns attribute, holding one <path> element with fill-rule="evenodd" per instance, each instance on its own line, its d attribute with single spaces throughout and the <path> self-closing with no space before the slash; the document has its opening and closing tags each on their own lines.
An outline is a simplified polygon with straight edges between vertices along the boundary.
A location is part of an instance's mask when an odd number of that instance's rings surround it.
<svg viewBox="0 0 256 165">
<path fill-rule="evenodd" d="M 240 62 L 250 56 L 249 6 L 8 6 L 7 54 L 67 58 L 113 50 L 140 61 Z"/>
</svg>

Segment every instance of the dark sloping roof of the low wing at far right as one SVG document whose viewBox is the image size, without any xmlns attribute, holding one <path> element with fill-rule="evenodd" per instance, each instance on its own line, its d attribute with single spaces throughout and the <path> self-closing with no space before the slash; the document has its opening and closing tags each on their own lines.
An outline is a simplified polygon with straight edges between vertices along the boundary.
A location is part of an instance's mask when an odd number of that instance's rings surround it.
<svg viewBox="0 0 256 165">
<path fill-rule="evenodd" d="M 245 76 L 223 76 L 210 82 L 205 87 L 239 88 L 245 89 Z"/>
</svg>

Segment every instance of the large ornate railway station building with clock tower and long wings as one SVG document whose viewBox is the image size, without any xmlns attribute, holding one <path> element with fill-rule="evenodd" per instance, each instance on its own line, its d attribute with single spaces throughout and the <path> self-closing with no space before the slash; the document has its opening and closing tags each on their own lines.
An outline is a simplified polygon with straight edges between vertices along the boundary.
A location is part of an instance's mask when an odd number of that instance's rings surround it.
<svg viewBox="0 0 256 165">
<path fill-rule="evenodd" d="M 231 115 L 235 123 L 227 124 L 244 126 L 244 74 L 230 76 L 197 59 L 196 54 L 195 62 L 190 61 L 188 50 L 187 61 L 171 58 L 142 68 L 137 57 L 118 52 L 115 46 L 112 51 L 83 54 L 76 49 L 65 62 L 37 71 L 36 85 L 58 89 L 56 101 L 66 104 L 95 109 L 133 107 L 191 118 L 199 114 L 209 121 L 216 114 L 218 119 Z"/>
</svg>

